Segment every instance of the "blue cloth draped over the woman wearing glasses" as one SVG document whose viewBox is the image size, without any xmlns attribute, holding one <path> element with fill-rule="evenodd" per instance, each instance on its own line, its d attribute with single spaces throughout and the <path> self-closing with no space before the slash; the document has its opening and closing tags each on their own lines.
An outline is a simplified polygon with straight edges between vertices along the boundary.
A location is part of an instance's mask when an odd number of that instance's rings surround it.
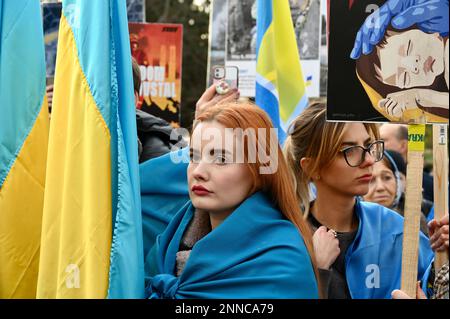
<svg viewBox="0 0 450 319">
<path fill-rule="evenodd" d="M 375 203 L 356 201 L 359 228 L 345 256 L 347 284 L 352 298 L 391 298 L 400 288 L 403 217 Z M 425 288 L 434 254 L 420 233 L 418 280 Z M 424 289 L 425 290 L 425 289 Z"/>
</svg>

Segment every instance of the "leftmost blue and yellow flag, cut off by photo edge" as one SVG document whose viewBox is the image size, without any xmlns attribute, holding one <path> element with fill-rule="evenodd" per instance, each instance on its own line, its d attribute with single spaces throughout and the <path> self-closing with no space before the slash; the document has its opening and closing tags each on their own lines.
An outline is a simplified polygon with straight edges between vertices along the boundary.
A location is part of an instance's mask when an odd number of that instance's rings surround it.
<svg viewBox="0 0 450 319">
<path fill-rule="evenodd" d="M 36 297 L 48 121 L 39 1 L 0 0 L 0 299 Z"/>
</svg>

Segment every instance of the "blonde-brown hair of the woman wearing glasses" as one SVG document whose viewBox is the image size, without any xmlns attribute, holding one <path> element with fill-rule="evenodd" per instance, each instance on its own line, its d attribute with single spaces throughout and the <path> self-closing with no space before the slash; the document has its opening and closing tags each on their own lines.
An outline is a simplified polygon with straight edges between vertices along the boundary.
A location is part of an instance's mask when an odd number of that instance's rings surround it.
<svg viewBox="0 0 450 319">
<path fill-rule="evenodd" d="M 338 155 L 346 125 L 327 122 L 324 103 L 311 104 L 291 124 L 283 151 L 295 178 L 295 192 L 305 218 L 310 210 L 309 182 Z M 364 126 L 369 135 L 379 138 L 376 124 L 364 123 Z M 304 157 L 313 159 L 308 172 L 300 166 L 300 160 Z"/>
</svg>

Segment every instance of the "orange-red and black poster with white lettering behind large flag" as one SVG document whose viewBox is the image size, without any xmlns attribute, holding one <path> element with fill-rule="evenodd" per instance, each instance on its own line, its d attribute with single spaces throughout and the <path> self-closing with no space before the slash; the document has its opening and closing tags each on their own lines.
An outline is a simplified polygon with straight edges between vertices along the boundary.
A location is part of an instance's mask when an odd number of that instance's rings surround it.
<svg viewBox="0 0 450 319">
<path fill-rule="evenodd" d="M 131 54 L 141 70 L 138 108 L 180 125 L 181 24 L 129 23 Z"/>
</svg>

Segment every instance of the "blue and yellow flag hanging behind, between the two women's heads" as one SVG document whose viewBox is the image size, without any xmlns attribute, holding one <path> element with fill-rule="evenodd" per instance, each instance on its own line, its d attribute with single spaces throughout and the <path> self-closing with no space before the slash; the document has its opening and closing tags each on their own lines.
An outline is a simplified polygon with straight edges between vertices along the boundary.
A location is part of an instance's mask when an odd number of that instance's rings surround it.
<svg viewBox="0 0 450 319">
<path fill-rule="evenodd" d="M 288 0 L 258 0 L 256 104 L 285 140 L 285 130 L 308 104 Z"/>
</svg>

